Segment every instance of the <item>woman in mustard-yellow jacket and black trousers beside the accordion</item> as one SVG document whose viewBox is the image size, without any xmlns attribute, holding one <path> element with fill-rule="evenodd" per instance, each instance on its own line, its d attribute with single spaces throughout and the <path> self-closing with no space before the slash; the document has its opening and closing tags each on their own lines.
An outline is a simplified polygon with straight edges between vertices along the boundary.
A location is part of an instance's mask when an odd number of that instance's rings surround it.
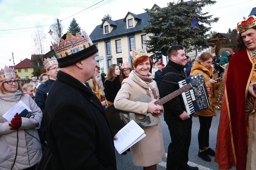
<svg viewBox="0 0 256 170">
<path fill-rule="evenodd" d="M 209 52 L 203 52 L 197 57 L 197 63 L 194 63 L 191 68 L 192 75 L 202 74 L 205 79 L 205 85 L 210 87 L 209 100 L 210 107 L 195 113 L 200 122 L 200 129 L 198 132 L 198 145 L 199 152 L 198 156 L 205 161 L 211 161 L 208 155 L 215 156 L 215 151 L 209 148 L 209 130 L 211 128 L 212 118 L 216 116 L 216 111 L 213 108 L 214 100 L 214 89 L 217 89 L 217 81 L 213 79 L 213 69 L 212 69 L 213 56 Z"/>
</svg>

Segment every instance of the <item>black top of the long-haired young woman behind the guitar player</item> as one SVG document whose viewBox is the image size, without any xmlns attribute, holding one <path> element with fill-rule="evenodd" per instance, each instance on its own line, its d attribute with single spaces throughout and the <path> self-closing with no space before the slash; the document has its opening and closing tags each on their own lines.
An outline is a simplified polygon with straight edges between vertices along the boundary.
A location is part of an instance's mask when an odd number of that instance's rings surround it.
<svg viewBox="0 0 256 170">
<path fill-rule="evenodd" d="M 121 88 L 119 76 L 117 76 L 114 81 L 106 80 L 104 84 L 104 93 L 106 100 L 114 102 L 116 95 Z"/>
</svg>

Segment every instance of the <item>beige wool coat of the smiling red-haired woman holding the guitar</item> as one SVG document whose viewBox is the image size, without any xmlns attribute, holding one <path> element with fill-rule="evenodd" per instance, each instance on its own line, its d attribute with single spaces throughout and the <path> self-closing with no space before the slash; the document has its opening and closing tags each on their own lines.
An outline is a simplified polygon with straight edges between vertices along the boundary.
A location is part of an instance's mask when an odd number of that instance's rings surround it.
<svg viewBox="0 0 256 170">
<path fill-rule="evenodd" d="M 151 73 L 148 73 L 148 75 L 152 76 Z M 157 88 L 155 81 L 151 84 L 154 88 Z M 132 71 L 129 78 L 124 79 L 122 87 L 117 93 L 114 101 L 115 108 L 145 115 L 148 103 L 134 102 L 134 100 L 142 94 L 146 95 L 147 88 L 148 85 Z M 144 128 L 146 137 L 130 148 L 132 161 L 135 166 L 148 167 L 155 165 L 162 162 L 162 158 L 165 157 L 161 122 L 159 116 L 153 116 L 158 119 L 158 124 Z"/>
</svg>

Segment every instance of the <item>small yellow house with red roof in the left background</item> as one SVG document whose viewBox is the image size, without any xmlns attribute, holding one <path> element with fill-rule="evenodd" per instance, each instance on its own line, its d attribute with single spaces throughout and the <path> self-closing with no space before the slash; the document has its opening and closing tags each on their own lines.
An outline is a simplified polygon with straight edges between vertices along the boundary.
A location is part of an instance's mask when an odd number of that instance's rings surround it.
<svg viewBox="0 0 256 170">
<path fill-rule="evenodd" d="M 31 60 L 25 58 L 15 66 L 15 71 L 19 75 L 19 79 L 31 79 L 34 72 Z"/>
</svg>

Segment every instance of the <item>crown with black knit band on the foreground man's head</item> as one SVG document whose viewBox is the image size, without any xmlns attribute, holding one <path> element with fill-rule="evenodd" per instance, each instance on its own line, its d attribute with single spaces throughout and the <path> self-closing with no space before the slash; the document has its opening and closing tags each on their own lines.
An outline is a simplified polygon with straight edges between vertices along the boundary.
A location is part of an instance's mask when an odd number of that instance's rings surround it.
<svg viewBox="0 0 256 170">
<path fill-rule="evenodd" d="M 61 37 L 59 46 L 52 43 L 60 68 L 74 65 L 98 52 L 89 35 L 85 31 L 83 35 L 78 33 L 73 35 L 68 31 Z"/>
</svg>

